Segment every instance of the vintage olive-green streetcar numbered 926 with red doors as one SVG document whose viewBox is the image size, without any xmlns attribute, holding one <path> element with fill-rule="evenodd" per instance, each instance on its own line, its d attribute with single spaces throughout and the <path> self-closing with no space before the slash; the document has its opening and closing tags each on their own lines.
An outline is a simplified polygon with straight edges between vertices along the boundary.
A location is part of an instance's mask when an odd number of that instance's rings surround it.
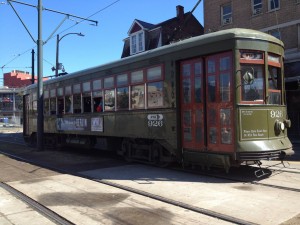
<svg viewBox="0 0 300 225">
<path fill-rule="evenodd" d="M 283 160 L 284 46 L 228 29 L 47 80 L 45 145 L 101 144 L 129 161 L 224 167 Z M 37 85 L 24 93 L 24 139 L 37 140 Z"/>
</svg>

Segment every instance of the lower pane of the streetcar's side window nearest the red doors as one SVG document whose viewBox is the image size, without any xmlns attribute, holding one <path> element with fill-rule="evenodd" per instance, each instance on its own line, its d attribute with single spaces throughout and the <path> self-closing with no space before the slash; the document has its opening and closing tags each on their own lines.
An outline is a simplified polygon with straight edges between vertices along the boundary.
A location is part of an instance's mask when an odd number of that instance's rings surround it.
<svg viewBox="0 0 300 225">
<path fill-rule="evenodd" d="M 148 107 L 163 106 L 163 82 L 147 84 Z"/>
</svg>

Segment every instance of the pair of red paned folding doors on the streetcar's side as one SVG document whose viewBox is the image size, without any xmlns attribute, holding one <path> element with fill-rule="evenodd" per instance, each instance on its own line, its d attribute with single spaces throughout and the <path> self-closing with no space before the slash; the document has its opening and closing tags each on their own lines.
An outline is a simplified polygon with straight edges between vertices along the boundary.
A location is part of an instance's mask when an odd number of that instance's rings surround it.
<svg viewBox="0 0 300 225">
<path fill-rule="evenodd" d="M 181 62 L 184 149 L 233 151 L 232 71 L 231 52 Z"/>
</svg>

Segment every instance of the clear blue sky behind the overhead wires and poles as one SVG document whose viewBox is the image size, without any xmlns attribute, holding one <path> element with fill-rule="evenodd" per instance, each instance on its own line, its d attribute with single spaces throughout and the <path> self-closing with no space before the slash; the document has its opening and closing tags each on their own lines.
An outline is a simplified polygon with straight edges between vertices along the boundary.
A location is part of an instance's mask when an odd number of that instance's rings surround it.
<svg viewBox="0 0 300 225">
<path fill-rule="evenodd" d="M 38 0 L 18 0 L 37 5 Z M 5 0 L 0 2 L 6 3 Z M 43 0 L 44 8 L 69 13 L 79 17 L 97 20 L 98 26 L 90 22 L 67 19 L 59 30 L 43 46 L 43 75 L 53 75 L 55 65 L 56 35 L 83 33 L 84 37 L 68 35 L 60 41 L 60 62 L 68 73 L 118 60 L 121 57 L 123 39 L 134 21 L 139 19 L 157 24 L 176 16 L 176 6 L 182 5 L 184 11 L 191 11 L 198 0 Z M 38 37 L 37 9 L 12 3 L 26 24 L 33 38 Z M 203 1 L 194 11 L 195 17 L 203 24 Z M 43 41 L 46 41 L 62 22 L 64 15 L 43 11 Z M 80 21 L 79 19 L 75 19 Z M 75 26 L 74 26 L 75 25 Z M 36 44 L 24 26 L 7 4 L 0 4 L 0 86 L 3 73 L 14 69 L 31 72 L 31 49 L 37 52 Z M 35 55 L 37 58 L 37 55 Z M 35 61 L 35 67 L 37 62 Z M 37 70 L 35 69 L 37 73 Z"/>
</svg>

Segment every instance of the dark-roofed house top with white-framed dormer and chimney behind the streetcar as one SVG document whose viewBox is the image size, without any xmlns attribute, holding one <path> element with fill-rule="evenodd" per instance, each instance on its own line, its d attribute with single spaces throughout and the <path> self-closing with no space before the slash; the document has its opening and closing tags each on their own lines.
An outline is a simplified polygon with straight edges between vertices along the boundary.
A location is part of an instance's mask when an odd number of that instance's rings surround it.
<svg viewBox="0 0 300 225">
<path fill-rule="evenodd" d="M 176 7 L 176 17 L 159 24 L 134 20 L 128 37 L 124 39 L 122 58 L 147 50 L 168 45 L 172 42 L 202 35 L 203 26 L 191 12 L 184 13 L 184 7 Z"/>
</svg>

